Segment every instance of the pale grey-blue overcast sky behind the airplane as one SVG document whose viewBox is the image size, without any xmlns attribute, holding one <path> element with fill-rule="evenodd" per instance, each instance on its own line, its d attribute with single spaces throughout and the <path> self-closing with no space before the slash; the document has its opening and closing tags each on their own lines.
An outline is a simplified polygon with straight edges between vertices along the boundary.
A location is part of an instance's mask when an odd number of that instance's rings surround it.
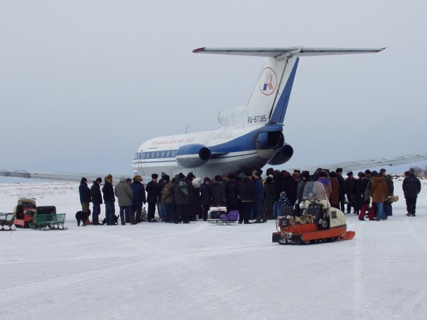
<svg viewBox="0 0 427 320">
<path fill-rule="evenodd" d="M 0 169 L 130 172 L 149 138 L 218 129 L 258 57 L 197 47 L 387 47 L 300 59 L 281 167 L 426 152 L 426 1 L 2 1 Z"/>
</svg>

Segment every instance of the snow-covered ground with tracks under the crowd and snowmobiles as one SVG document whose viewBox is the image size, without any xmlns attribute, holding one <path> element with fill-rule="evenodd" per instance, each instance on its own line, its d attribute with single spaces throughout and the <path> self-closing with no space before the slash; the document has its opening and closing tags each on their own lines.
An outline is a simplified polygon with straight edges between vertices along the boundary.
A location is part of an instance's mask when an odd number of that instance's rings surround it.
<svg viewBox="0 0 427 320">
<path fill-rule="evenodd" d="M 274 221 L 77 227 L 77 184 L 0 184 L 0 212 L 31 189 L 69 227 L 0 232 L 1 319 L 426 319 L 422 184 L 417 217 L 394 182 L 389 220 L 305 246 L 271 243 Z"/>
</svg>

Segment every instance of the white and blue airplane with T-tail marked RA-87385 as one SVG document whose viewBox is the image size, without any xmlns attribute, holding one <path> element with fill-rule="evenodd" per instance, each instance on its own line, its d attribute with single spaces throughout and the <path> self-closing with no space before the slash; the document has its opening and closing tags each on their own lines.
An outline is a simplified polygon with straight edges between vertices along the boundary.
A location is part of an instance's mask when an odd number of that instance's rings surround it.
<svg viewBox="0 0 427 320">
<path fill-rule="evenodd" d="M 300 57 L 334 54 L 368 54 L 380 48 L 207 48 L 194 49 L 196 54 L 230 54 L 267 58 L 259 73 L 249 102 L 244 107 L 223 109 L 218 114 L 221 128 L 192 134 L 152 138 L 139 146 L 131 161 L 134 174 L 151 179 L 151 174 L 165 173 L 170 177 L 192 172 L 197 177 L 240 174 L 258 170 L 265 165 L 283 165 L 293 156 L 291 144 L 283 136 L 283 120 L 296 76 Z M 357 170 L 376 165 L 400 165 L 427 160 L 427 153 L 397 155 L 340 162 L 317 167 L 334 170 Z M 300 168 L 314 171 L 317 167 Z M 129 176 L 129 174 L 121 174 Z M 0 170 L 0 176 L 79 181 L 103 177 L 102 174 L 62 172 L 28 172 Z"/>
</svg>

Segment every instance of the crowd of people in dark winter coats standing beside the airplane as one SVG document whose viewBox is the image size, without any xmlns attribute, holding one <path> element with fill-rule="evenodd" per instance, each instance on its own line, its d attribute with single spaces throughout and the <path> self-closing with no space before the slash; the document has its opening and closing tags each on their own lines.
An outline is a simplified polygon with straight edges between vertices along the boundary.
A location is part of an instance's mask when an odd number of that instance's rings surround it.
<svg viewBox="0 0 427 320">
<path fill-rule="evenodd" d="M 303 187 L 307 182 L 322 183 L 332 207 L 350 214 L 353 210 L 359 220 L 387 220 L 392 215 L 394 184 L 392 177 L 380 172 L 365 170 L 353 172 L 343 177 L 342 168 L 335 171 L 317 169 L 313 174 L 308 171 L 267 169 L 267 178 L 262 180 L 262 170 L 247 171 L 242 177 L 228 174 L 217 175 L 214 179 L 205 177 L 203 182 L 191 172 L 177 174 L 170 179 L 168 174 L 151 175 L 151 181 L 144 186 L 141 175 L 133 179 L 120 177 L 113 186 L 112 175 L 103 179 L 98 177 L 89 188 L 88 179 L 82 177 L 78 188 L 82 211 L 90 213 L 93 203 L 93 225 L 135 225 L 146 219 L 148 222 L 190 223 L 197 219 L 208 219 L 212 207 L 226 207 L 226 211 L 238 211 L 238 223 L 265 223 L 281 215 L 281 208 L 294 207 L 303 197 Z M 421 182 L 414 170 L 405 172 L 402 183 L 408 216 L 416 215 L 416 198 L 421 191 Z M 102 194 L 101 194 L 102 191 Z M 119 205 L 119 215 L 115 214 L 115 201 Z M 372 201 L 372 203 L 371 203 Z M 105 219 L 100 222 L 101 204 L 105 203 Z M 144 205 L 148 204 L 145 213 Z M 156 210 L 160 219 L 155 218 Z M 146 217 L 145 217 L 146 215 Z M 255 220 L 255 221 L 250 221 Z M 89 223 L 89 222 L 88 222 Z"/>
</svg>

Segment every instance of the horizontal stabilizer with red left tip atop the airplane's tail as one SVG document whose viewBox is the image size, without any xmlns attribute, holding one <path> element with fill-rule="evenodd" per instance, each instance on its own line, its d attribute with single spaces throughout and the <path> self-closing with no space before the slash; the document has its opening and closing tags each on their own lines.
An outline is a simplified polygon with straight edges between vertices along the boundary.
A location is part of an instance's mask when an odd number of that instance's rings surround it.
<svg viewBox="0 0 427 320">
<path fill-rule="evenodd" d="M 193 53 L 204 54 L 231 54 L 236 56 L 270 57 L 280 59 L 281 57 L 308 57 L 328 56 L 333 54 L 366 54 L 376 53 L 383 48 L 206 48 L 201 47 L 193 50 Z"/>
</svg>

